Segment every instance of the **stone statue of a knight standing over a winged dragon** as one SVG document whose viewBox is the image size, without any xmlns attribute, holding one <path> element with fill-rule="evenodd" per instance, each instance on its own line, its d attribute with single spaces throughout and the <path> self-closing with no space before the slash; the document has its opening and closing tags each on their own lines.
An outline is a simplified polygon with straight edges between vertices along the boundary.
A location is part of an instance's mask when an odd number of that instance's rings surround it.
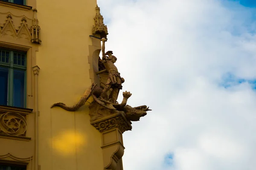
<svg viewBox="0 0 256 170">
<path fill-rule="evenodd" d="M 131 93 L 127 91 L 123 92 L 122 103 L 118 104 L 116 100 L 119 90 L 122 89 L 124 79 L 120 77 L 120 73 L 114 65 L 116 57 L 112 55 L 113 51 L 107 51 L 105 53 L 105 42 L 106 39 L 102 38 L 102 59 L 99 59 L 99 62 L 101 62 L 99 64 L 103 64 L 106 71 L 108 71 L 108 81 L 105 88 L 102 89 L 98 85 L 92 84 L 84 92 L 84 95 L 76 105 L 67 106 L 64 103 L 55 103 L 51 108 L 58 106 L 66 111 L 77 111 L 92 96 L 93 102 L 89 106 L 91 122 L 118 113 L 124 115 L 128 121 L 139 121 L 140 117 L 145 116 L 147 114 L 146 112 L 151 110 L 146 105 L 138 107 L 127 105 L 127 100 L 131 96 Z M 112 91 L 108 95 L 108 91 L 110 90 Z"/>
</svg>

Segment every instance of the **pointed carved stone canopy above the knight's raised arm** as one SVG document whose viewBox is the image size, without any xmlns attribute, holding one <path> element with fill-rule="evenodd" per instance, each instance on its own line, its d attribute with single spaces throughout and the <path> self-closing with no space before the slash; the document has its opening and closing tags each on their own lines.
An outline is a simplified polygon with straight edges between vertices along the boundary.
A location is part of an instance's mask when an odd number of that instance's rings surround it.
<svg viewBox="0 0 256 170">
<path fill-rule="evenodd" d="M 96 6 L 96 16 L 94 17 L 95 25 L 93 26 L 93 35 L 100 34 L 101 38 L 107 38 L 108 28 L 103 23 L 103 17 L 100 14 L 100 8 Z"/>
</svg>

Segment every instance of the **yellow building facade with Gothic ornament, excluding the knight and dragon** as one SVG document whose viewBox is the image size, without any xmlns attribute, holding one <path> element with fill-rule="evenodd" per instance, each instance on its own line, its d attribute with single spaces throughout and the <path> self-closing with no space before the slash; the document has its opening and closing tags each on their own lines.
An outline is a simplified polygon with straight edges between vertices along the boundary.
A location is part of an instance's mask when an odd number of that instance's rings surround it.
<svg viewBox="0 0 256 170">
<path fill-rule="evenodd" d="M 108 86 L 107 34 L 96 0 L 0 0 L 0 170 L 123 169 L 122 133 L 148 108 L 109 104 L 90 88 Z M 51 107 L 80 98 L 76 109 Z"/>
</svg>

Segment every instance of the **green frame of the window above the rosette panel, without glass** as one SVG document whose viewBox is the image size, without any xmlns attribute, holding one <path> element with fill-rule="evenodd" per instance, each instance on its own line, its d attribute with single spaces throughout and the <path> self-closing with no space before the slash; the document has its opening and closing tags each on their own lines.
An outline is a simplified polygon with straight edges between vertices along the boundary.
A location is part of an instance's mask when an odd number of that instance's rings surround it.
<svg viewBox="0 0 256 170">
<path fill-rule="evenodd" d="M 27 51 L 18 51 L 15 49 L 0 48 L 1 51 L 9 51 L 9 62 L 0 61 L 0 67 L 8 68 L 8 94 L 7 94 L 7 106 L 15 107 L 14 104 L 14 70 L 24 71 L 24 102 L 21 108 L 26 108 L 26 92 L 27 92 Z M 24 66 L 14 64 L 14 53 L 24 54 L 25 61 Z M 1 58 L 1 57 L 0 57 Z"/>
</svg>

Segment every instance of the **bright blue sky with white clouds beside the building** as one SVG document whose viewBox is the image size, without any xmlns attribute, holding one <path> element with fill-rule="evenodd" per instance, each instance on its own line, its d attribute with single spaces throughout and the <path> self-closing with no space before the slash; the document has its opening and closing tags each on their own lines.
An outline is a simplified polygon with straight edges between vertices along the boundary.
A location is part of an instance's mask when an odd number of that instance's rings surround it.
<svg viewBox="0 0 256 170">
<path fill-rule="evenodd" d="M 123 134 L 124 170 L 256 170 L 256 1 L 98 5 L 128 105 L 152 109 Z"/>
</svg>

